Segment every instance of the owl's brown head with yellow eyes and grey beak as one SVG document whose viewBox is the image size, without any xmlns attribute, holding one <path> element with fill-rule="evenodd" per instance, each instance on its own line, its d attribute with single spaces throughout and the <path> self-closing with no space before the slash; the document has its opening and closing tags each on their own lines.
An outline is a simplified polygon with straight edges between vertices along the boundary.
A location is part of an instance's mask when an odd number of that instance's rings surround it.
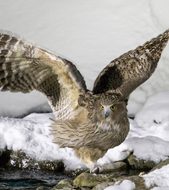
<svg viewBox="0 0 169 190">
<path fill-rule="evenodd" d="M 107 91 L 102 94 L 88 92 L 81 96 L 79 105 L 88 109 L 89 114 L 97 120 L 109 120 L 127 113 L 126 100 L 121 94 Z"/>
</svg>

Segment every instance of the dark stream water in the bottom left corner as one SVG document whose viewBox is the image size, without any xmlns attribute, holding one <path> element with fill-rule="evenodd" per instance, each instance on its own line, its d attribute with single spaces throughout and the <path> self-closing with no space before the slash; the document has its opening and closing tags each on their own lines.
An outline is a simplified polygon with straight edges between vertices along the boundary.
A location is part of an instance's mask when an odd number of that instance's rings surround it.
<svg viewBox="0 0 169 190">
<path fill-rule="evenodd" d="M 0 190 L 34 190 L 43 186 L 48 190 L 61 179 L 68 178 L 63 174 L 42 171 L 0 171 Z"/>
</svg>

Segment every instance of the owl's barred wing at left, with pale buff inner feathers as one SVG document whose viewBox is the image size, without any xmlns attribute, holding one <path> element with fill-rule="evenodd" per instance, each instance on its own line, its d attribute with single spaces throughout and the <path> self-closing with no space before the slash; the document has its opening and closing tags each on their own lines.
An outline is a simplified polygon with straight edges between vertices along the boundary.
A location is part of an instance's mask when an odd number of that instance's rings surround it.
<svg viewBox="0 0 169 190">
<path fill-rule="evenodd" d="M 70 61 L 0 33 L 0 89 L 23 93 L 38 90 L 62 119 L 71 117 L 86 84 Z"/>
</svg>

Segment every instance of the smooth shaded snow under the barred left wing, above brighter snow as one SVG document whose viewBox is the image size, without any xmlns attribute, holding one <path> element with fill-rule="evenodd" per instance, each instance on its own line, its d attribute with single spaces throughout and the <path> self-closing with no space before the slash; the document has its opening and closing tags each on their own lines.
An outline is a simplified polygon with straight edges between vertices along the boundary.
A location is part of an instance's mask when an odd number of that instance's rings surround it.
<svg viewBox="0 0 169 190">
<path fill-rule="evenodd" d="M 23 117 L 33 112 L 51 112 L 47 98 L 40 92 L 0 92 L 0 116 Z"/>
</svg>

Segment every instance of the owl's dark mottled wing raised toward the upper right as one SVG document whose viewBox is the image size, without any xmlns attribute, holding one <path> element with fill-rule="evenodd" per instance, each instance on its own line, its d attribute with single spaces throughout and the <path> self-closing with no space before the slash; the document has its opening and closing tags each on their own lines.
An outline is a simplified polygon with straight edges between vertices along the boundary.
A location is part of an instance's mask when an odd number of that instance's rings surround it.
<svg viewBox="0 0 169 190">
<path fill-rule="evenodd" d="M 169 30 L 113 60 L 98 75 L 93 93 L 116 90 L 126 98 L 154 72 L 169 39 Z"/>
</svg>

